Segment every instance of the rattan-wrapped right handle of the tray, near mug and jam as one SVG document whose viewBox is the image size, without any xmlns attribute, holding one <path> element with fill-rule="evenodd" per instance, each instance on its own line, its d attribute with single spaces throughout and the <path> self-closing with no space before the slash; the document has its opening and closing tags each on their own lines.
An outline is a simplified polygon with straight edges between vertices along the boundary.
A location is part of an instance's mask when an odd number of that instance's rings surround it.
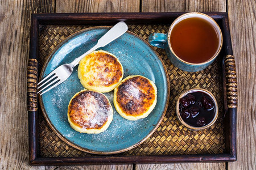
<svg viewBox="0 0 256 170">
<path fill-rule="evenodd" d="M 226 94 L 228 108 L 237 108 L 237 74 L 236 63 L 233 55 L 227 55 L 224 59 L 226 70 Z"/>
</svg>

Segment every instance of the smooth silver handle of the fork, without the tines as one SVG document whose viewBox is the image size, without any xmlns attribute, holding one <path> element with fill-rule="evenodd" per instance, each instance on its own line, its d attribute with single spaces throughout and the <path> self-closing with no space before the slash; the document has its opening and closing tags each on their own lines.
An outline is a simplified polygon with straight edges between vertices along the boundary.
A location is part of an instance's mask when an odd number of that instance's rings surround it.
<svg viewBox="0 0 256 170">
<path fill-rule="evenodd" d="M 73 69 L 73 67 L 78 65 L 80 60 L 82 58 L 84 58 L 86 55 L 92 53 L 97 48 L 105 46 L 105 45 L 109 44 L 110 42 L 114 41 L 119 36 L 123 35 L 127 30 L 128 30 L 128 27 L 125 22 L 119 22 L 119 23 L 115 24 L 114 27 L 112 27 L 108 32 L 105 33 L 104 36 L 102 36 L 98 40 L 97 44 L 95 46 L 93 46 L 93 48 L 91 48 L 88 52 L 82 54 L 80 57 L 77 57 L 74 61 L 71 62 L 72 69 Z"/>
</svg>

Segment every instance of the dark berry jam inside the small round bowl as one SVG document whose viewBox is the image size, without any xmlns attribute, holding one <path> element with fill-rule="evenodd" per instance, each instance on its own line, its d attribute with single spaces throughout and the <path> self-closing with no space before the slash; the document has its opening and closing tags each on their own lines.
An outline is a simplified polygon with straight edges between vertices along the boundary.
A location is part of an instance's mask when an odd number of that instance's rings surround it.
<svg viewBox="0 0 256 170">
<path fill-rule="evenodd" d="M 208 94 L 196 91 L 180 99 L 179 111 L 188 125 L 202 127 L 213 120 L 216 107 Z"/>
</svg>

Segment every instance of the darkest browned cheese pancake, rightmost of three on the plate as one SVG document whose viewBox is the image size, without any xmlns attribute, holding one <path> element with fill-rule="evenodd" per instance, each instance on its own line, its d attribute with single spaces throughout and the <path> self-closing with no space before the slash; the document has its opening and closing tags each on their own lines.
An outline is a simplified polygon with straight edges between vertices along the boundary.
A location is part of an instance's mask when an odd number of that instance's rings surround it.
<svg viewBox="0 0 256 170">
<path fill-rule="evenodd" d="M 114 90 L 114 106 L 127 120 L 145 118 L 156 105 L 154 82 L 141 75 L 131 75 L 123 79 Z"/>
</svg>

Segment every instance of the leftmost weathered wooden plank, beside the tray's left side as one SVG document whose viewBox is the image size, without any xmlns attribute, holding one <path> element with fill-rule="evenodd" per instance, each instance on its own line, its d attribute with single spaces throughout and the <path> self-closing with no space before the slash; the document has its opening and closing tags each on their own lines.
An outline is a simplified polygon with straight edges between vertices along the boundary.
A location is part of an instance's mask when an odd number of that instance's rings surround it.
<svg viewBox="0 0 256 170">
<path fill-rule="evenodd" d="M 0 167 L 28 169 L 26 73 L 31 12 L 52 12 L 50 1 L 0 1 Z M 43 169 L 44 167 L 30 167 Z"/>
</svg>

